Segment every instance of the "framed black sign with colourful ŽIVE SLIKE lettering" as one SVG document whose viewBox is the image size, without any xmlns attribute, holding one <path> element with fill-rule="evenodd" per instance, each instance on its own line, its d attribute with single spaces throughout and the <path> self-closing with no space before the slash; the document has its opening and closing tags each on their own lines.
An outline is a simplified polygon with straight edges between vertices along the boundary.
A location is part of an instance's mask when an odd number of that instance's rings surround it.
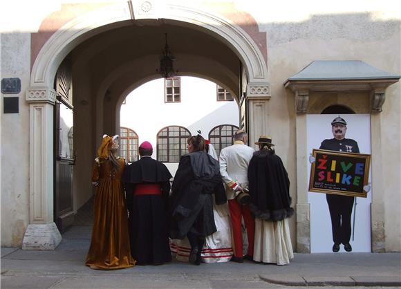
<svg viewBox="0 0 401 289">
<path fill-rule="evenodd" d="M 313 149 L 309 191 L 366 198 L 371 155 Z"/>
</svg>

